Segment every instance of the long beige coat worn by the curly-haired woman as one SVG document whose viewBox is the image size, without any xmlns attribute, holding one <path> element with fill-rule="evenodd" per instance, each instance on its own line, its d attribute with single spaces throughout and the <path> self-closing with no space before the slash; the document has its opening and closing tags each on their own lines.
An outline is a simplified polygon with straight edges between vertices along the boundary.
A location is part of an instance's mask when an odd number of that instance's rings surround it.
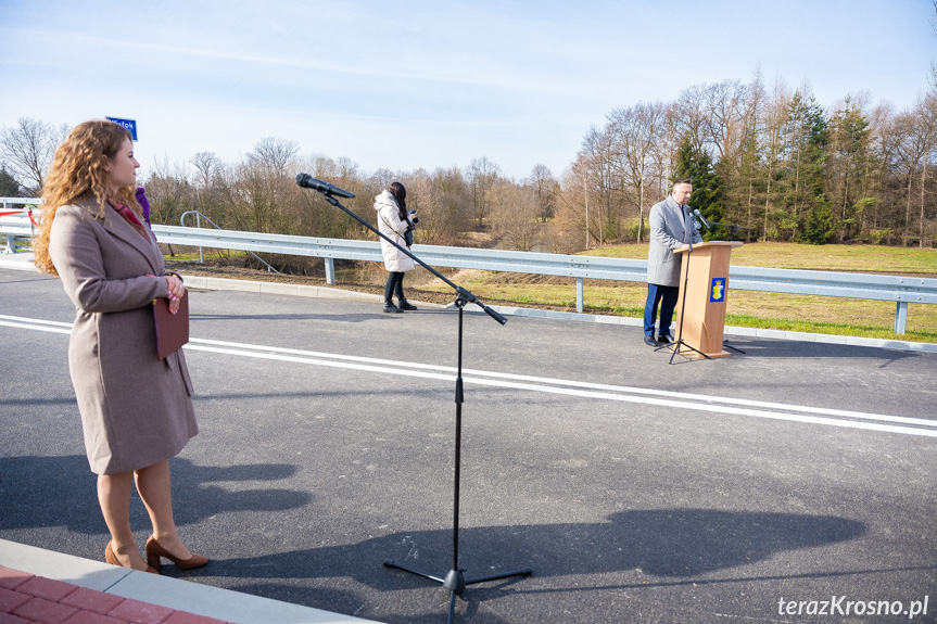
<svg viewBox="0 0 937 624">
<path fill-rule="evenodd" d="M 179 349 L 156 359 L 152 300 L 168 296 L 163 256 L 96 202 L 55 213 L 49 255 L 77 314 L 68 369 L 91 470 L 114 474 L 177 455 L 199 425 Z"/>
</svg>

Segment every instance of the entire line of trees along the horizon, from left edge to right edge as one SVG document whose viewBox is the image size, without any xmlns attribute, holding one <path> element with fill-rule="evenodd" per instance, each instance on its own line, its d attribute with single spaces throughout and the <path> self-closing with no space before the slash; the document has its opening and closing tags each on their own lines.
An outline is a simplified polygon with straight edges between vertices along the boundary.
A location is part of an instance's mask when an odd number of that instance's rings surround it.
<svg viewBox="0 0 937 624">
<path fill-rule="evenodd" d="M 30 118 L 4 127 L 0 196 L 38 194 L 66 131 Z M 400 180 L 420 213 L 417 242 L 572 253 L 646 241 L 650 206 L 691 176 L 693 207 L 748 228 L 748 241 L 929 247 L 937 245 L 935 160 L 937 88 L 900 111 L 864 93 L 824 109 L 808 84 L 765 86 L 757 72 L 750 82 L 695 85 L 673 102 L 611 111 L 559 176 L 537 164 L 516 180 L 486 157 L 465 168 L 366 173 L 350 158 L 303 155 L 292 141 L 266 138 L 235 163 L 213 152 L 156 162 L 142 183 L 154 222 L 178 225 L 197 209 L 225 229 L 372 238 L 300 189 L 295 174 L 355 193 L 345 204 L 371 221 L 373 196 Z"/>
</svg>

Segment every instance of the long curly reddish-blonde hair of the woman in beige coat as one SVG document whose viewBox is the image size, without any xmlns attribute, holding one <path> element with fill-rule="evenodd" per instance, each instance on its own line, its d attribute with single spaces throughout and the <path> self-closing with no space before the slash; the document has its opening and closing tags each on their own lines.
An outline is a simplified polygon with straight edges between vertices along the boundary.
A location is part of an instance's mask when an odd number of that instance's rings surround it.
<svg viewBox="0 0 937 624">
<path fill-rule="evenodd" d="M 99 216 L 104 215 L 109 203 L 121 202 L 142 217 L 143 209 L 137 202 L 134 187 L 123 187 L 117 190 L 116 196 L 111 196 L 107 186 L 104 158 L 113 158 L 125 139 L 132 140 L 125 127 L 114 122 L 92 119 L 76 126 L 55 150 L 49 175 L 42 184 L 39 231 L 33 239 L 34 264 L 40 271 L 59 275 L 49 257 L 49 233 L 55 212 L 62 206 L 94 198 Z"/>
</svg>

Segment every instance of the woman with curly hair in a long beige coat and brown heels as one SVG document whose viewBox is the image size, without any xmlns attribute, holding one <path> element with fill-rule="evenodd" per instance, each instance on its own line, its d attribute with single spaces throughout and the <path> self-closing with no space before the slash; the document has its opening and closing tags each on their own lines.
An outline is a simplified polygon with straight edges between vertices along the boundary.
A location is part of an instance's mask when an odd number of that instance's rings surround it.
<svg viewBox="0 0 937 624">
<path fill-rule="evenodd" d="M 207 559 L 186 548 L 173 518 L 168 460 L 199 426 L 181 349 L 156 358 L 151 302 L 168 298 L 175 311 L 183 286 L 142 224 L 134 195 L 139 166 L 122 126 L 92 120 L 72 130 L 42 189 L 34 251 L 36 266 L 61 277 L 76 307 L 68 369 L 111 533 L 105 561 L 159 572 L 161 557 L 181 569 Z M 147 561 L 130 529 L 135 481 L 153 524 Z"/>
</svg>

